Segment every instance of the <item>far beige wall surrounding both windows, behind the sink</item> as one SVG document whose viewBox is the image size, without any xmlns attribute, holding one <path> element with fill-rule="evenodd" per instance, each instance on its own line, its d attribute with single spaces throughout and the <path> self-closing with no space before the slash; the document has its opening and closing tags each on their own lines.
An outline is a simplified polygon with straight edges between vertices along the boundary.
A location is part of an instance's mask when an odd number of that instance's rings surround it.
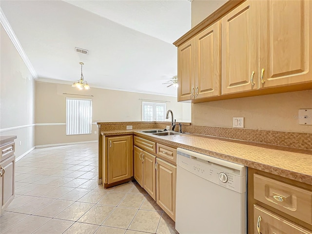
<svg viewBox="0 0 312 234">
<path fill-rule="evenodd" d="M 94 97 L 63 95 L 82 94 Z M 56 84 L 36 82 L 36 123 L 52 124 L 36 126 L 36 145 L 57 144 L 65 142 L 81 142 L 97 140 L 97 126 L 93 125 L 92 134 L 66 136 L 66 97 L 92 98 L 92 121 L 115 122 L 115 121 L 141 121 L 142 100 L 168 101 L 167 110 L 174 112 L 177 121 L 190 121 L 191 108 L 188 103 L 178 103 L 175 97 L 140 94 L 116 90 L 91 88 L 79 91 L 69 84 Z M 53 124 L 63 125 L 53 125 Z"/>
</svg>

